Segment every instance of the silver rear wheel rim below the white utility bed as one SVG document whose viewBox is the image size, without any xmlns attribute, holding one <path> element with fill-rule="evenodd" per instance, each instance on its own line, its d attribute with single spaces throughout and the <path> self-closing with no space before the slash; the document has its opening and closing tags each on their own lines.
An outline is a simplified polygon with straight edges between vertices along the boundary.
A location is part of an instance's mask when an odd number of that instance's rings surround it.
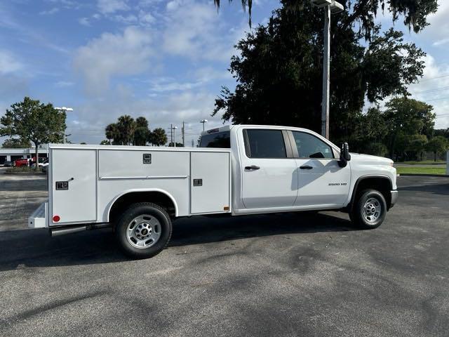
<svg viewBox="0 0 449 337">
<path fill-rule="evenodd" d="M 161 237 L 161 223 L 149 214 L 136 216 L 126 227 L 126 239 L 131 246 L 139 249 L 154 246 Z"/>
</svg>

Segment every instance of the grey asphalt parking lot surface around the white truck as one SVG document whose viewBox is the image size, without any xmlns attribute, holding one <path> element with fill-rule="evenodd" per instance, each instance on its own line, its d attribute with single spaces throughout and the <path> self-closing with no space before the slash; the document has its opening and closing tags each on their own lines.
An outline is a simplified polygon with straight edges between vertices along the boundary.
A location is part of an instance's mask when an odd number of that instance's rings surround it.
<svg viewBox="0 0 449 337">
<path fill-rule="evenodd" d="M 180 219 L 168 249 L 127 260 L 109 230 L 27 229 L 46 180 L 0 175 L 0 336 L 449 336 L 449 178 L 398 185 L 377 230 Z"/>
</svg>

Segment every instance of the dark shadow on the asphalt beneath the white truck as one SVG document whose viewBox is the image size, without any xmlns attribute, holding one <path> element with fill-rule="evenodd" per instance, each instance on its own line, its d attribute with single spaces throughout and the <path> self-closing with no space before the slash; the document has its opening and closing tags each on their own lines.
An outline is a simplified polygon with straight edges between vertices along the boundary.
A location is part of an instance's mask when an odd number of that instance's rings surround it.
<svg viewBox="0 0 449 337">
<path fill-rule="evenodd" d="M 251 237 L 356 230 L 349 220 L 328 214 L 273 214 L 227 218 L 181 218 L 173 223 L 168 245 L 187 246 Z M 0 271 L 116 263 L 128 259 L 116 248 L 112 230 L 94 230 L 51 238 L 48 231 L 0 232 Z"/>
</svg>

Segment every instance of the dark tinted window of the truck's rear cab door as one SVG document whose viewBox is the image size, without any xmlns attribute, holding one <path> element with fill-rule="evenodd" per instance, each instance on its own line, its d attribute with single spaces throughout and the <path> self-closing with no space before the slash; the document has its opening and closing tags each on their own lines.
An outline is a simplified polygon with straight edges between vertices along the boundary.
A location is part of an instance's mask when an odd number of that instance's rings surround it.
<svg viewBox="0 0 449 337">
<path fill-rule="evenodd" d="M 245 150 L 249 158 L 286 158 L 281 130 L 246 129 Z"/>
</svg>

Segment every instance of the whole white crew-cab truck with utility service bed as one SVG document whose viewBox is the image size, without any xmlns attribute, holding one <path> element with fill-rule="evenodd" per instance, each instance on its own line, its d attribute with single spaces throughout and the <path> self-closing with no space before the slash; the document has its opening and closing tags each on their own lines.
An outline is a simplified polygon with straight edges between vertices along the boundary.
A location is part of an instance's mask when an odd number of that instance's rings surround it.
<svg viewBox="0 0 449 337">
<path fill-rule="evenodd" d="M 192 148 L 49 145 L 49 158 L 48 202 L 29 227 L 113 227 L 135 258 L 168 244 L 173 218 L 339 210 L 375 228 L 398 198 L 393 161 L 303 128 L 223 126 Z"/>
</svg>

